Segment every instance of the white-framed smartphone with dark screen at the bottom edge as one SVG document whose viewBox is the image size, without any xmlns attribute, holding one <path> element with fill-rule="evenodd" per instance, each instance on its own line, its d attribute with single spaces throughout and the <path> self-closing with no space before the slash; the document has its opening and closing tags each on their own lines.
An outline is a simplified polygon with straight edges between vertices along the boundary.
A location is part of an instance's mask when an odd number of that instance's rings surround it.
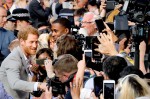
<svg viewBox="0 0 150 99">
<path fill-rule="evenodd" d="M 115 81 L 103 80 L 104 99 L 115 99 Z"/>
</svg>

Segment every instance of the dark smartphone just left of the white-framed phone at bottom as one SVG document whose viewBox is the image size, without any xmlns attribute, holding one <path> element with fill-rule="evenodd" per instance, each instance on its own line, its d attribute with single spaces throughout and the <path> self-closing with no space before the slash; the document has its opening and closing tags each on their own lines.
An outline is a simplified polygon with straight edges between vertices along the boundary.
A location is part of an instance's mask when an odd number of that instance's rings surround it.
<svg viewBox="0 0 150 99">
<path fill-rule="evenodd" d="M 94 77 L 94 93 L 96 97 L 99 97 L 100 93 L 103 91 L 103 76 Z"/>
</svg>

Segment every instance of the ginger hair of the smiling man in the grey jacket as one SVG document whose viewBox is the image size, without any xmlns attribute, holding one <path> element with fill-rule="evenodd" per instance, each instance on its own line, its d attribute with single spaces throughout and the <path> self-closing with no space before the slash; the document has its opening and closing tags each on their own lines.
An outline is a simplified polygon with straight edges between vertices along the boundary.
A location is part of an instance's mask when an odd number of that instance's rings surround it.
<svg viewBox="0 0 150 99">
<path fill-rule="evenodd" d="M 21 30 L 19 30 L 18 39 L 27 40 L 29 34 L 39 36 L 37 29 L 29 25 L 26 28 L 22 28 Z"/>
</svg>

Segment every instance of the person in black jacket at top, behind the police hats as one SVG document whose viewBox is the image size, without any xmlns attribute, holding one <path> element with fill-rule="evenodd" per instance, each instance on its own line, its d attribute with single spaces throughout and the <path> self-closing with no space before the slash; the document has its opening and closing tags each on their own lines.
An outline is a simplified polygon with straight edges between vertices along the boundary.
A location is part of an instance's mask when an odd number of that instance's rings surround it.
<svg viewBox="0 0 150 99">
<path fill-rule="evenodd" d="M 47 22 L 51 13 L 49 0 L 32 0 L 29 4 L 29 13 L 35 28 L 39 22 Z"/>
</svg>

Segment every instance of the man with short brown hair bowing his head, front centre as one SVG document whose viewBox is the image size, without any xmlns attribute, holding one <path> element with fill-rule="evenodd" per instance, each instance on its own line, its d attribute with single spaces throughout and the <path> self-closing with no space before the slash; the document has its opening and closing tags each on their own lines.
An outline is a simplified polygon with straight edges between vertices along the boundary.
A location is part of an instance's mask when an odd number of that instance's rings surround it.
<svg viewBox="0 0 150 99">
<path fill-rule="evenodd" d="M 62 83 L 68 81 L 72 82 L 73 83 L 72 87 L 81 86 L 81 85 L 77 85 L 77 83 L 75 82 L 76 72 L 78 70 L 77 63 L 78 60 L 70 54 L 60 55 L 57 58 L 57 61 L 55 61 L 53 64 L 55 75 L 56 77 L 59 78 L 59 81 L 61 81 Z M 65 95 L 65 99 L 71 99 L 70 90 L 67 91 Z"/>
</svg>

